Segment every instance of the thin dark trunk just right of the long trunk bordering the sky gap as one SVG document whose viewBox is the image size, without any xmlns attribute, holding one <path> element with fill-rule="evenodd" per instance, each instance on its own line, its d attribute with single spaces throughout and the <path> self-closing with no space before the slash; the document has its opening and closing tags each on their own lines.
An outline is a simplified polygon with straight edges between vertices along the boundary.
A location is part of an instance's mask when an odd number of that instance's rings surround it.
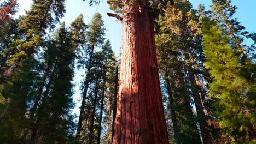
<svg viewBox="0 0 256 144">
<path fill-rule="evenodd" d="M 97 73 L 98 73 L 98 68 L 97 68 Z M 99 79 L 99 74 L 97 74 L 96 82 L 95 82 L 95 92 L 94 92 L 94 104 L 93 104 L 93 109 L 92 109 L 92 115 L 91 115 L 91 124 L 90 124 L 90 132 L 89 132 L 89 144 L 92 143 L 92 139 L 94 137 L 94 117 L 95 117 L 95 111 L 96 111 L 96 104 L 97 104 L 97 93 L 98 93 L 98 79 Z"/>
</svg>

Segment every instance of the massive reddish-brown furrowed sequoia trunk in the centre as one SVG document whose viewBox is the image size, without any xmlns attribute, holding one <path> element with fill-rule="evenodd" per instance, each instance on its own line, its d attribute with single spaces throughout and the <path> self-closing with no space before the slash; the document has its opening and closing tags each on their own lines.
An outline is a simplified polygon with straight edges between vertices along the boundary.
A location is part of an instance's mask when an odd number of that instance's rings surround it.
<svg viewBox="0 0 256 144">
<path fill-rule="evenodd" d="M 113 143 L 168 143 L 147 1 L 123 2 L 123 39 Z"/>
</svg>

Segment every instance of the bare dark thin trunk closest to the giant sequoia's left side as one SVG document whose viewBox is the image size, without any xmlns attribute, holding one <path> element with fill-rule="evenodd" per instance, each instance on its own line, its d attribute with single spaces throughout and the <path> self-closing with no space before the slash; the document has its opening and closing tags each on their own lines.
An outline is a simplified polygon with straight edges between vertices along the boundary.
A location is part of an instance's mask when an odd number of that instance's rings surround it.
<svg viewBox="0 0 256 144">
<path fill-rule="evenodd" d="M 117 115 L 117 97 L 118 97 L 118 66 L 115 67 L 115 93 L 113 101 L 113 119 L 112 119 L 112 134 L 111 134 L 111 143 L 113 142 L 114 129 L 115 129 L 115 116 Z"/>
</svg>

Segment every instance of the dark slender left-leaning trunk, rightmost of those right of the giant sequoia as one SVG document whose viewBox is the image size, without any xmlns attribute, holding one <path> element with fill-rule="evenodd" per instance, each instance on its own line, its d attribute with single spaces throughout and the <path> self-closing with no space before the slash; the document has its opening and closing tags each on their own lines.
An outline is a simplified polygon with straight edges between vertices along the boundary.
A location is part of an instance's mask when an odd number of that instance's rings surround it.
<svg viewBox="0 0 256 144">
<path fill-rule="evenodd" d="M 188 53 L 185 53 L 185 59 L 189 60 Z M 210 135 L 210 131 L 208 131 L 208 129 L 206 129 L 207 121 L 206 121 L 205 112 L 203 111 L 203 105 L 202 105 L 202 101 L 200 98 L 200 93 L 199 93 L 198 89 L 196 88 L 195 74 L 190 65 L 188 68 L 188 75 L 189 75 L 189 81 L 191 82 L 192 96 L 193 96 L 194 102 L 195 102 L 197 117 L 200 120 L 200 130 L 201 130 L 201 134 L 202 134 L 203 143 L 211 144 L 212 143 L 211 135 Z"/>
</svg>

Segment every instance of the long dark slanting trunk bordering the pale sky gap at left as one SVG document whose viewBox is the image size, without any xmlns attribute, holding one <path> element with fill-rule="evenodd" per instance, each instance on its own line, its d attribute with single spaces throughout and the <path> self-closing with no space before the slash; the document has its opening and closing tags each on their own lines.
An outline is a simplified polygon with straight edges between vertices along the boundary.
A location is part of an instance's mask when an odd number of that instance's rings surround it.
<svg viewBox="0 0 256 144">
<path fill-rule="evenodd" d="M 91 63 L 92 63 L 93 55 L 94 55 L 94 45 L 91 46 L 90 59 L 89 59 L 89 63 L 88 63 L 86 78 L 84 81 L 84 92 L 83 92 L 82 104 L 80 106 L 80 114 L 79 114 L 78 125 L 77 125 L 77 133 L 75 134 L 75 136 L 78 137 L 78 139 L 80 137 L 80 133 L 82 130 L 81 129 L 82 123 L 83 123 L 83 119 L 84 119 L 84 108 L 85 108 L 86 95 L 87 95 L 88 86 L 89 86 L 89 77 L 90 77 Z"/>
</svg>

